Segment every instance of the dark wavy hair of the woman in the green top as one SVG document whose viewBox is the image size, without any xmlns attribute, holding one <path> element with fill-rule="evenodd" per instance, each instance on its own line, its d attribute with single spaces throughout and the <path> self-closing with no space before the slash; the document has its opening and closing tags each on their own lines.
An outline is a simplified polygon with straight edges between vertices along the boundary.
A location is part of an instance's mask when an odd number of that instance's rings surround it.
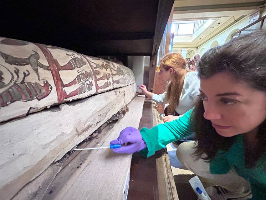
<svg viewBox="0 0 266 200">
<path fill-rule="evenodd" d="M 250 87 L 266 94 L 266 30 L 236 37 L 223 46 L 208 50 L 200 59 L 197 69 L 200 79 L 227 72 L 236 82 L 244 81 Z M 210 120 L 203 117 L 203 113 L 203 102 L 198 100 L 191 118 L 197 140 L 195 154 L 200 158 L 205 153 L 207 157 L 202 158 L 212 161 L 219 150 L 226 152 L 230 149 L 235 136 L 223 137 L 217 134 Z M 245 163 L 249 168 L 254 167 L 266 153 L 265 121 L 260 124 L 257 137 L 259 142 L 253 153 L 251 154 L 250 150 L 245 153 Z"/>
</svg>

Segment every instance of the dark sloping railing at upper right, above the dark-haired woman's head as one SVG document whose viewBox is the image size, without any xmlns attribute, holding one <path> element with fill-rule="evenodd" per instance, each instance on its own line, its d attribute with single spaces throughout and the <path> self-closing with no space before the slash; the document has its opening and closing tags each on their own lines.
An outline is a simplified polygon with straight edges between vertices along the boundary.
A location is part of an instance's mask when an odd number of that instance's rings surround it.
<svg viewBox="0 0 266 200">
<path fill-rule="evenodd" d="M 265 18 L 266 18 L 266 15 L 264 15 L 261 18 L 258 18 L 256 21 L 252 22 L 251 24 L 248 24 L 243 29 L 238 30 L 237 32 L 235 32 L 234 34 L 231 35 L 231 39 L 233 37 L 237 37 L 241 34 L 247 34 L 247 33 L 251 33 L 251 32 L 258 30 L 258 29 L 266 28 L 266 23 L 263 24 Z"/>
</svg>

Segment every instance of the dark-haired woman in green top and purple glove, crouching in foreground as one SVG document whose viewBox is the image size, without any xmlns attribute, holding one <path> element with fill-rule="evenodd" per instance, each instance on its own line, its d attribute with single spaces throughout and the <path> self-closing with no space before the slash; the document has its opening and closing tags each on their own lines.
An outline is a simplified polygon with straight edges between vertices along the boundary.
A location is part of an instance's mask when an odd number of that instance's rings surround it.
<svg viewBox="0 0 266 200">
<path fill-rule="evenodd" d="M 140 131 L 122 130 L 115 153 L 149 157 L 168 143 L 179 145 L 184 167 L 207 181 L 212 199 L 266 199 L 266 31 L 239 36 L 208 50 L 199 61 L 200 98 L 178 120 Z"/>
</svg>

